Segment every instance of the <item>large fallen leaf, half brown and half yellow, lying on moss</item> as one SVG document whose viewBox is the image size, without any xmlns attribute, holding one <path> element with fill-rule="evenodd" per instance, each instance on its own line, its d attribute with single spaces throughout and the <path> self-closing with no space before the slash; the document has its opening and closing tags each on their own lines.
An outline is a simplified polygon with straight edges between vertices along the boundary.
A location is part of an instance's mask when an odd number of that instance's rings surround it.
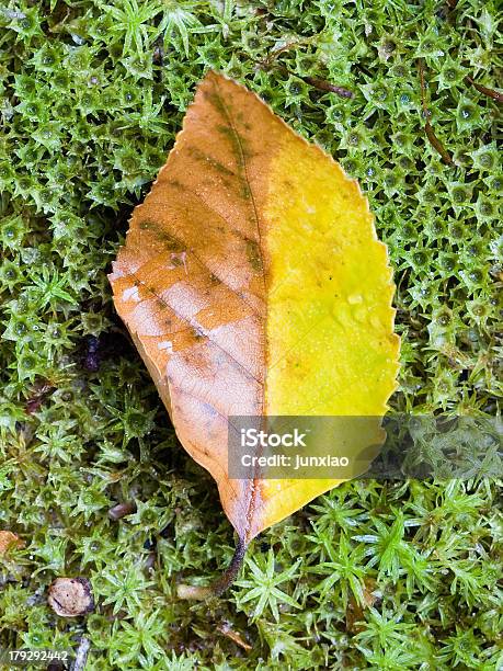
<svg viewBox="0 0 503 671">
<path fill-rule="evenodd" d="M 342 481 L 231 480 L 227 467 L 231 416 L 379 418 L 396 388 L 387 249 L 357 183 L 319 147 L 209 72 L 110 280 L 181 443 L 218 484 L 238 554 Z"/>
</svg>

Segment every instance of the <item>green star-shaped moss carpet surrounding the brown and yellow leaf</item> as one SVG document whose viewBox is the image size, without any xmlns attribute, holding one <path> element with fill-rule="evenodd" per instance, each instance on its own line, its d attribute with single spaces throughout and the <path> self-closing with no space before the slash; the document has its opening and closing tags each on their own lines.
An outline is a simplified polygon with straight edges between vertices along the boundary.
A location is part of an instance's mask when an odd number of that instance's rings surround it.
<svg viewBox="0 0 503 671">
<path fill-rule="evenodd" d="M 84 635 L 92 669 L 501 668 L 502 525 L 489 478 L 345 484 L 263 534 L 222 599 L 178 600 L 178 579 L 209 581 L 228 566 L 232 532 L 209 477 L 178 446 L 106 280 L 194 84 L 221 70 L 367 193 L 398 285 L 393 408 L 493 416 L 499 105 L 467 77 L 494 90 L 501 76 L 496 10 L 2 4 L 0 530 L 25 547 L 0 557 L 1 646 L 75 648 Z M 134 512 L 108 516 L 133 500 Z M 94 614 L 50 611 L 59 576 L 91 580 Z"/>
</svg>

